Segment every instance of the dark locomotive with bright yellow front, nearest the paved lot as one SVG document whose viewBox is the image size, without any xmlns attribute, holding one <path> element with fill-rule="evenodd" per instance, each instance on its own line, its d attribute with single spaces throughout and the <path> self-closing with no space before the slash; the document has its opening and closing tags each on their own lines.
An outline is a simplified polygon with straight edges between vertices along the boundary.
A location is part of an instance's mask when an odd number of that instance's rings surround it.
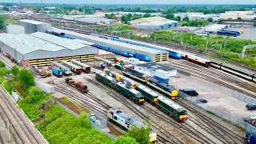
<svg viewBox="0 0 256 144">
<path fill-rule="evenodd" d="M 178 97 L 178 90 L 175 90 L 174 86 L 170 86 L 166 83 L 160 82 L 155 78 L 150 78 L 147 84 L 154 89 L 166 94 L 171 99 L 176 99 Z"/>
</svg>

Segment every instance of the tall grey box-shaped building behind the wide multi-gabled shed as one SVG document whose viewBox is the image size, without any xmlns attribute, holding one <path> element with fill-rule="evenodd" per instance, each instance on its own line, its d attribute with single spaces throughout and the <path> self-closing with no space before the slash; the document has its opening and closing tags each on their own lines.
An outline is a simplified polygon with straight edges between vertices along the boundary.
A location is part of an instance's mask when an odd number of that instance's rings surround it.
<svg viewBox="0 0 256 144">
<path fill-rule="evenodd" d="M 33 20 L 19 20 L 18 24 L 20 26 L 24 26 L 25 28 L 25 34 L 31 34 L 35 32 L 43 32 L 45 33 L 47 29 L 50 29 L 51 25 L 50 23 L 46 22 L 38 22 Z"/>
</svg>

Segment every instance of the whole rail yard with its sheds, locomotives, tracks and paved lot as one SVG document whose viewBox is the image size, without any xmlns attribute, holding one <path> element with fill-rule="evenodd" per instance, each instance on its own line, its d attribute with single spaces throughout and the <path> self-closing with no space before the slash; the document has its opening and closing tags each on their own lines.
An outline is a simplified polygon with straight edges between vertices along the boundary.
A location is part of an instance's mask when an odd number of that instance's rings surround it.
<svg viewBox="0 0 256 144">
<path fill-rule="evenodd" d="M 41 24 L 22 21 L 25 29 L 31 25 Z M 143 121 L 152 122 L 152 143 L 243 143 L 242 118 L 255 115 L 234 93 L 253 101 L 256 72 L 214 62 L 192 50 L 178 50 L 175 45 L 157 46 L 49 25 L 30 34 L 1 34 L 0 42 L 3 62 L 31 70 L 38 81 L 54 88 L 54 97 L 78 102 L 106 118 L 116 130 L 124 131 L 120 125 L 129 130 L 130 126 L 143 127 Z M 101 55 L 99 50 L 115 56 Z M 197 90 L 198 96 L 191 97 L 182 89 Z M 10 120 L 14 126 L 10 138 L 17 143 L 44 143 L 41 135 L 35 138 L 37 131 L 11 106 L 2 89 L 1 93 L 2 111 L 6 107 L 12 111 L 1 117 L 18 122 L 16 127 Z M 198 98 L 208 102 L 194 104 Z M 241 118 L 238 123 L 218 118 L 215 110 Z"/>
</svg>

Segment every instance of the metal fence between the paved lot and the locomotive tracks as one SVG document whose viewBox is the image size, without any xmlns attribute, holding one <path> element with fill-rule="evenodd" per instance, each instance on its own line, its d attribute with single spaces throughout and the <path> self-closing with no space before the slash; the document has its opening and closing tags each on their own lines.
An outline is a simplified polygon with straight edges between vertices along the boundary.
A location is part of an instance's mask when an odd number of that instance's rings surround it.
<svg viewBox="0 0 256 144">
<path fill-rule="evenodd" d="M 227 121 L 233 122 L 234 124 L 241 126 L 243 128 L 245 127 L 243 118 L 238 115 L 234 115 L 234 114 L 226 113 L 222 110 L 218 110 L 212 106 L 207 105 L 206 103 L 199 102 L 196 98 L 192 98 L 189 95 L 182 93 L 181 91 L 178 92 L 178 96 L 183 99 L 186 99 L 188 102 L 190 102 L 194 106 L 198 106 L 198 108 L 206 110 L 206 112 L 210 114 L 214 114 L 219 118 L 226 119 Z"/>
</svg>

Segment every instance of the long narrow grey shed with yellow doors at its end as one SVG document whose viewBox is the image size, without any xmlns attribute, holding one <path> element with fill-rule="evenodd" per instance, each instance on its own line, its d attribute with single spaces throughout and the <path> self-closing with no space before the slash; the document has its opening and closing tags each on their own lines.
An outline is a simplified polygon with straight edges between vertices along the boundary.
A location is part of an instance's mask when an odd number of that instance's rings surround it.
<svg viewBox="0 0 256 144">
<path fill-rule="evenodd" d="M 167 60 L 168 52 L 164 50 L 154 50 L 143 46 L 134 46 L 123 42 L 116 42 L 109 39 L 98 38 L 86 34 L 78 34 L 69 30 L 60 30 L 52 28 L 51 31 L 63 33 L 70 38 L 77 38 L 87 42 L 93 42 L 98 45 L 112 47 L 116 50 L 123 50 L 135 54 L 145 54 L 150 57 L 150 62 L 162 62 Z"/>
</svg>

